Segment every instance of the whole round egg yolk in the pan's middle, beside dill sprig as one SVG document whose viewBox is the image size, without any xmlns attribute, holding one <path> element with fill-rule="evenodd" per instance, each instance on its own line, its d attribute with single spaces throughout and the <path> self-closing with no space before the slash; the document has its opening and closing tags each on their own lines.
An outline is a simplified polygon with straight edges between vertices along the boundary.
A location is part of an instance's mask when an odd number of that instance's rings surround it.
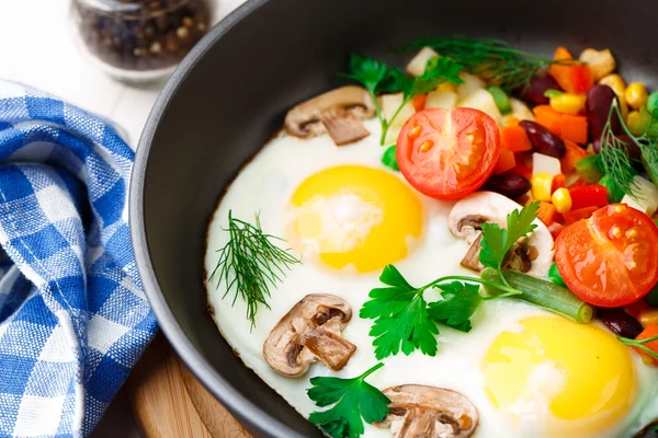
<svg viewBox="0 0 658 438">
<path fill-rule="evenodd" d="M 420 199 L 395 175 L 362 165 L 326 169 L 293 194 L 288 241 L 326 265 L 381 269 L 407 256 L 422 228 Z"/>
</svg>

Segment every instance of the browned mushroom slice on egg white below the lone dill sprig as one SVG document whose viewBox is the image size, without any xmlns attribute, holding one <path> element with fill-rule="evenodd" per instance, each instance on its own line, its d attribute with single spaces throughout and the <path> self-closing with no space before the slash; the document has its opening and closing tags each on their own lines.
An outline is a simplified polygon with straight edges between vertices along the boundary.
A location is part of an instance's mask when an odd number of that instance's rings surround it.
<svg viewBox="0 0 658 438">
<path fill-rule="evenodd" d="M 343 299 L 328 293 L 311 293 L 297 302 L 270 332 L 263 357 L 276 372 L 298 377 L 320 359 L 332 370 L 350 360 L 356 346 L 341 336 L 352 319 Z"/>
</svg>

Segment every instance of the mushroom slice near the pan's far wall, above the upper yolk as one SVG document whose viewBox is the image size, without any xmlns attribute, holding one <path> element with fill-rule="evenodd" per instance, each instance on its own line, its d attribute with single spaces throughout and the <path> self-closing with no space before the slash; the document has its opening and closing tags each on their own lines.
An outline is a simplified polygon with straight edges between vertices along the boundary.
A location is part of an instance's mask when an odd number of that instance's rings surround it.
<svg viewBox="0 0 658 438">
<path fill-rule="evenodd" d="M 363 123 L 375 115 L 375 104 L 361 87 L 341 87 L 298 104 L 285 116 L 285 129 L 307 138 L 328 132 L 343 146 L 370 136 Z"/>
</svg>

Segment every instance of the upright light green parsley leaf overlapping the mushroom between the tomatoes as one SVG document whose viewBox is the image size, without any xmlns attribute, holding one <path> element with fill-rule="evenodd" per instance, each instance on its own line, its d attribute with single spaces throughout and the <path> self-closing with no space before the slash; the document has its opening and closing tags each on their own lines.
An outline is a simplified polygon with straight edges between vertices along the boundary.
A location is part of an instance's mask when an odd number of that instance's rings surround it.
<svg viewBox="0 0 658 438">
<path fill-rule="evenodd" d="M 534 201 L 521 211 L 512 211 L 507 217 L 507 230 L 500 229 L 498 223 L 483 223 L 480 263 L 500 270 L 508 251 L 519 239 L 526 237 L 537 227 L 533 221 L 537 218 L 538 209 L 540 203 Z"/>
</svg>

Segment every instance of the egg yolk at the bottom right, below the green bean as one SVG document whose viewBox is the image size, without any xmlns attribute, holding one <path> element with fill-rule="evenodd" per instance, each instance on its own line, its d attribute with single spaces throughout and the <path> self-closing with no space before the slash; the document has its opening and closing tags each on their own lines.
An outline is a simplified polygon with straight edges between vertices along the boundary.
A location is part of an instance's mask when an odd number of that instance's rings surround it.
<svg viewBox="0 0 658 438">
<path fill-rule="evenodd" d="M 484 362 L 494 404 L 533 436 L 591 436 L 619 420 L 635 393 L 628 348 L 608 332 L 554 316 L 503 332 Z"/>
</svg>

